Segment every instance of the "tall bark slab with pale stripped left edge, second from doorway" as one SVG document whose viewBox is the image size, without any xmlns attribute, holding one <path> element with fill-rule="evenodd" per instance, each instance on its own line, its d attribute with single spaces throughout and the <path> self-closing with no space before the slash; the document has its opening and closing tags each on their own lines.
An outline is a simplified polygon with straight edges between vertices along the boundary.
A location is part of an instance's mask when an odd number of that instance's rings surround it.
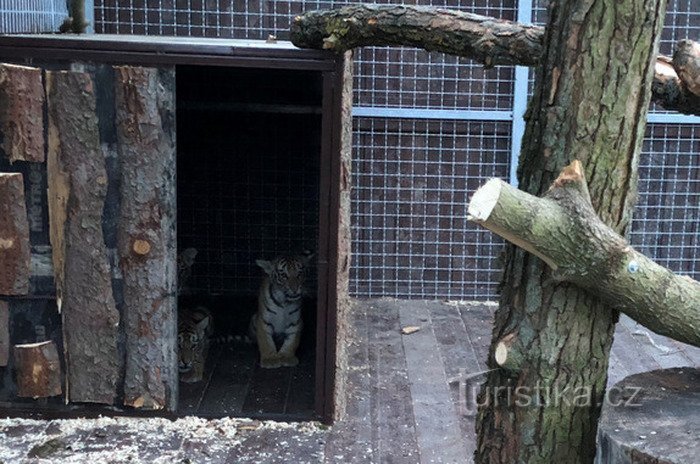
<svg viewBox="0 0 700 464">
<path fill-rule="evenodd" d="M 107 194 L 95 85 L 83 72 L 49 71 L 48 187 L 51 244 L 63 315 L 67 393 L 113 404 L 122 369 L 119 312 L 102 231 Z"/>
</svg>

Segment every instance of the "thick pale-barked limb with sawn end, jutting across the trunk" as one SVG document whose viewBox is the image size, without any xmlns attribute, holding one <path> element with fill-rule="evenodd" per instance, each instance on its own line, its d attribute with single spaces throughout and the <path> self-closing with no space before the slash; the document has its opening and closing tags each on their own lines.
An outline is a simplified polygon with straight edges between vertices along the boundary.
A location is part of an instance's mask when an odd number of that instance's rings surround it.
<svg viewBox="0 0 700 464">
<path fill-rule="evenodd" d="M 600 295 L 659 334 L 700 346 L 700 283 L 654 263 L 606 226 L 593 210 L 578 161 L 562 171 L 543 198 L 491 179 L 472 196 L 469 214 L 540 257 L 555 271 L 554 280 Z M 513 357 L 504 356 L 509 337 L 496 346 L 502 367 Z"/>
</svg>

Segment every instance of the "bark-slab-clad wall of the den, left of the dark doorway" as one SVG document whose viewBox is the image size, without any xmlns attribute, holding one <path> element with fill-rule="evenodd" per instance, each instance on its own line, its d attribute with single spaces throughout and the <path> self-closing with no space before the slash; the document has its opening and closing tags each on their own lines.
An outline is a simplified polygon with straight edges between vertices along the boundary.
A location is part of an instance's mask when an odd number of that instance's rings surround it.
<svg viewBox="0 0 700 464">
<path fill-rule="evenodd" d="M 173 410 L 174 69 L 71 68 L 0 64 L 0 295 L 32 298 L 0 301 L 0 400 L 40 367 L 12 343 L 48 338 L 51 395 Z"/>
</svg>

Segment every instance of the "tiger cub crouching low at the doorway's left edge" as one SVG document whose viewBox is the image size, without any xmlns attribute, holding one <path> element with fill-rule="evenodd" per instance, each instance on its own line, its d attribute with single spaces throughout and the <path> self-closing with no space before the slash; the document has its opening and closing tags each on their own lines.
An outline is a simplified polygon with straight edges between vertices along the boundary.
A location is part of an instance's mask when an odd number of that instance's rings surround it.
<svg viewBox="0 0 700 464">
<path fill-rule="evenodd" d="M 177 360 L 181 382 L 199 382 L 209 353 L 214 320 L 204 306 L 181 307 L 177 323 Z"/>
</svg>

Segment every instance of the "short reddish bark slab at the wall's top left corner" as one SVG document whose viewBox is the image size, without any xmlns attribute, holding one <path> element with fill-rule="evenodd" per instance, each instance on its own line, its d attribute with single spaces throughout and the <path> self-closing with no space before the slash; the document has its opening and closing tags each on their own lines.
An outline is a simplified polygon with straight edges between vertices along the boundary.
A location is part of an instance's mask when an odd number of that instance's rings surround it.
<svg viewBox="0 0 700 464">
<path fill-rule="evenodd" d="M 44 161 L 41 69 L 0 64 L 0 134 L 10 163 Z"/>
</svg>

